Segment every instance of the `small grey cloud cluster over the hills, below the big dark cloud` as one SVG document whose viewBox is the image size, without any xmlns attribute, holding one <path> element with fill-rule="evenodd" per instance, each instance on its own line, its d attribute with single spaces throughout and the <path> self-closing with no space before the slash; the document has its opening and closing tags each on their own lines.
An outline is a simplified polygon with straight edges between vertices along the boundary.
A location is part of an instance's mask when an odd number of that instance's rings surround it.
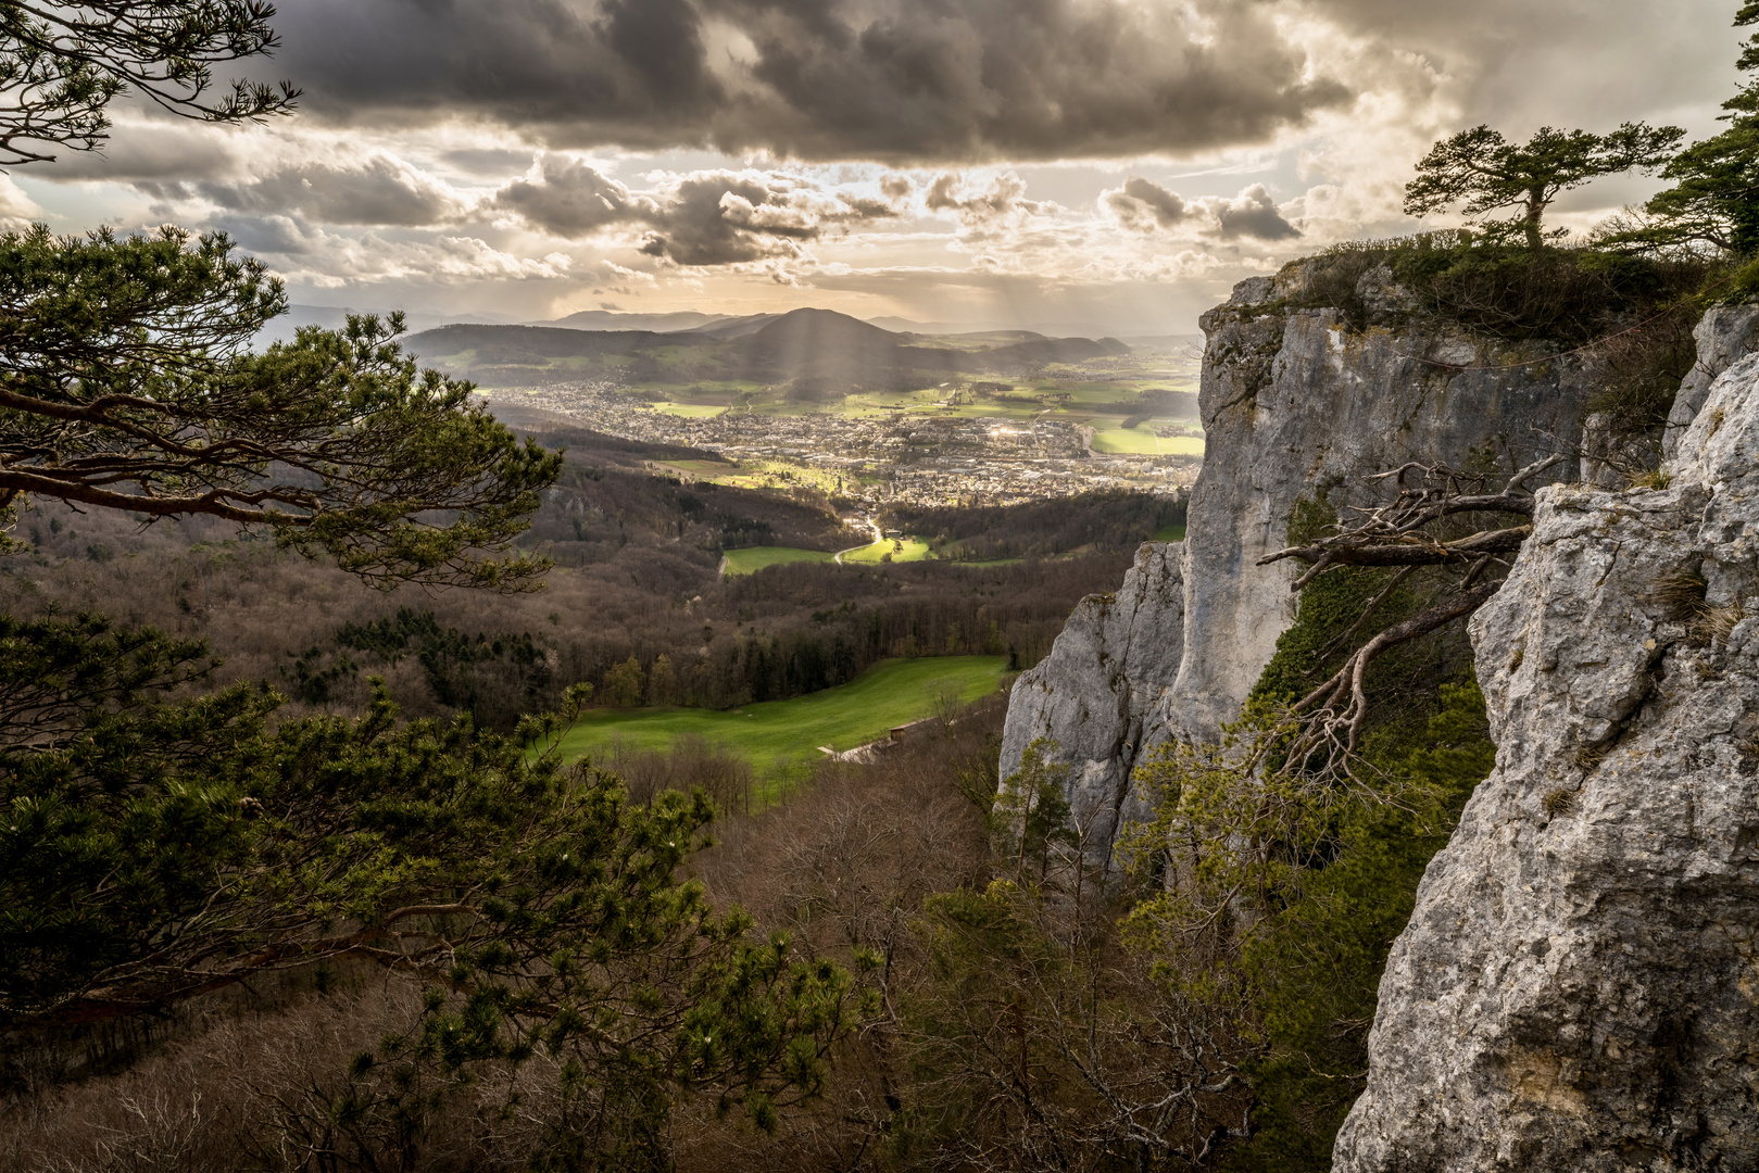
<svg viewBox="0 0 1759 1173">
<path fill-rule="evenodd" d="M 535 178 L 501 188 L 493 204 L 554 236 L 647 229 L 642 251 L 681 266 L 790 257 L 828 227 L 897 215 L 881 200 L 781 174 L 705 171 L 651 195 L 635 193 L 584 162 L 556 155 L 538 164 Z"/>
</svg>

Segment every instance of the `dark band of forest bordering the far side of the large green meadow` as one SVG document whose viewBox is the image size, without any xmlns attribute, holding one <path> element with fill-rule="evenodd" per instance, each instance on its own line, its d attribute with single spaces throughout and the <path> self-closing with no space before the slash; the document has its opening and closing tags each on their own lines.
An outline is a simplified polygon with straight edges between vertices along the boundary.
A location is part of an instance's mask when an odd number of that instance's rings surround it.
<svg viewBox="0 0 1759 1173">
<path fill-rule="evenodd" d="M 899 656 L 1008 656 L 1024 670 L 1050 651 L 1075 603 L 1126 565 L 1119 554 L 980 568 L 795 563 L 663 607 L 642 605 L 651 596 L 639 587 L 598 580 L 593 601 L 623 619 L 603 624 L 538 617 L 528 600 L 447 623 L 405 605 L 288 649 L 271 682 L 308 705 L 347 707 L 364 700 L 368 677 L 419 668 L 431 703 L 507 730 L 524 712 L 554 709 L 580 681 L 605 707 L 730 709 L 848 684 Z"/>
</svg>

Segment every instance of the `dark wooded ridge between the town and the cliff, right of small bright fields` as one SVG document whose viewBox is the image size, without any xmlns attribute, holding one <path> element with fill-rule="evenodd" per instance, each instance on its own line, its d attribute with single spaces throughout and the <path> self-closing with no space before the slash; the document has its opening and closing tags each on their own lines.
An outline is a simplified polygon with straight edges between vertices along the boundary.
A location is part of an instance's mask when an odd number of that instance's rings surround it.
<svg viewBox="0 0 1759 1173">
<path fill-rule="evenodd" d="M 1168 526 L 1184 526 L 1186 498 L 1108 491 L 982 508 L 892 505 L 881 522 L 929 538 L 941 557 L 955 561 L 1050 557 L 1082 549 L 1133 550 Z"/>
</svg>

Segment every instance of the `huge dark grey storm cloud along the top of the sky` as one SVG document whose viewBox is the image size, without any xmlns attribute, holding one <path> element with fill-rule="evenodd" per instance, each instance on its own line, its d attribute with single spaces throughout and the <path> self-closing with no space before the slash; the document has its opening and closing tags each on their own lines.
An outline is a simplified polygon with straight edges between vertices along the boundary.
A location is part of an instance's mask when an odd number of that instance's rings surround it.
<svg viewBox="0 0 1759 1173">
<path fill-rule="evenodd" d="M 971 162 L 1263 141 L 1351 95 L 1254 0 L 304 0 L 274 63 L 332 120 L 551 146 Z"/>
</svg>

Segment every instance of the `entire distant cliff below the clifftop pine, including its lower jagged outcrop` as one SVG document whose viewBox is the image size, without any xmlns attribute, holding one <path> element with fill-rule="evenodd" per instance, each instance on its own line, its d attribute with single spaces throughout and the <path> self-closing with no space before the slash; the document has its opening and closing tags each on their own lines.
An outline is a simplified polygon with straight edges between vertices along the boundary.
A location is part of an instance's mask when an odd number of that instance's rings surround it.
<svg viewBox="0 0 1759 1173">
<path fill-rule="evenodd" d="M 1530 353 L 1397 325 L 1404 294 L 1384 269 L 1356 295 L 1386 325 L 1354 331 L 1339 310 L 1300 308 L 1310 276 L 1295 264 L 1242 281 L 1203 315 L 1207 452 L 1179 566 L 1138 561 L 1115 605 L 1077 610 L 1057 651 L 1015 686 L 1003 777 L 1033 737 L 1055 739 L 1077 767 L 1071 805 L 1105 807 L 1115 827 L 1142 754 L 1175 735 L 1214 740 L 1270 663 L 1293 621 L 1295 572 L 1258 559 L 1286 545 L 1296 501 L 1326 492 L 1342 505 L 1365 477 L 1407 461 L 1506 468 L 1573 447 L 1590 392 L 1573 361 L 1509 366 Z M 1157 645 L 1092 635 L 1113 631 L 1108 608 L 1126 598 L 1143 600 L 1131 603 L 1131 630 L 1157 633 Z"/>
</svg>

